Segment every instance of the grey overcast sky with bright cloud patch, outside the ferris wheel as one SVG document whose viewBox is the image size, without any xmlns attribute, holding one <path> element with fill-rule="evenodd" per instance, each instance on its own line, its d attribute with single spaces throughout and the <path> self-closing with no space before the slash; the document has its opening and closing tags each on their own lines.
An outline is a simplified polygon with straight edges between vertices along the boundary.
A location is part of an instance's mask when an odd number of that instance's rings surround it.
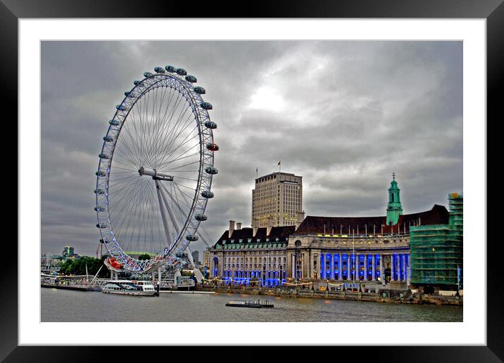
<svg viewBox="0 0 504 363">
<path fill-rule="evenodd" d="M 279 160 L 303 176 L 306 215 L 385 215 L 392 172 L 405 213 L 462 192 L 462 42 L 42 42 L 42 253 L 95 254 L 108 120 L 168 64 L 213 104 L 213 238 L 229 219 L 250 227 L 256 167 Z"/>
</svg>

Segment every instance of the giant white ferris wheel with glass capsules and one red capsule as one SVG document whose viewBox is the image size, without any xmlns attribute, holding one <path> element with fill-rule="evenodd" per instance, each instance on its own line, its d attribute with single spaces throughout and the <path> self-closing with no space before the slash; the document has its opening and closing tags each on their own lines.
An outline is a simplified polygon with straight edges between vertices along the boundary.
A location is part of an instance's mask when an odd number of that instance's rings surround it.
<svg viewBox="0 0 504 363">
<path fill-rule="evenodd" d="M 144 272 L 173 263 L 175 250 L 199 238 L 219 148 L 208 115 L 212 105 L 196 81 L 172 65 L 144 72 L 108 122 L 94 209 L 116 269 Z M 144 253 L 151 258 L 132 257 Z"/>
</svg>

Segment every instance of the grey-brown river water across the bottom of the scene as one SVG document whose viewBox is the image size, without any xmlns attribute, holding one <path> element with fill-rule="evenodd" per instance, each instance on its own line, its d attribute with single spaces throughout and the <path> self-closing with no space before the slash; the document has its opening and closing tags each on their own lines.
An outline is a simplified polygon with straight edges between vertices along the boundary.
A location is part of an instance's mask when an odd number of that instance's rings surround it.
<svg viewBox="0 0 504 363">
<path fill-rule="evenodd" d="M 47 321 L 462 321 L 461 306 L 370 303 L 233 293 L 162 293 L 134 297 L 42 288 Z M 273 309 L 226 307 L 229 300 L 268 300 Z"/>
</svg>

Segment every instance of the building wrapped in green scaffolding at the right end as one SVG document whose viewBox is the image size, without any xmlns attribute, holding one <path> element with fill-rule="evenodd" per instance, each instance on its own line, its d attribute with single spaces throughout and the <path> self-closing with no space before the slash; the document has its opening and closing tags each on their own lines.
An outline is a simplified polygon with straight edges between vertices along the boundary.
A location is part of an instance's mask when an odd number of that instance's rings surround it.
<svg viewBox="0 0 504 363">
<path fill-rule="evenodd" d="M 461 284 L 463 243 L 462 194 L 448 195 L 448 224 L 410 227 L 411 284 Z"/>
</svg>

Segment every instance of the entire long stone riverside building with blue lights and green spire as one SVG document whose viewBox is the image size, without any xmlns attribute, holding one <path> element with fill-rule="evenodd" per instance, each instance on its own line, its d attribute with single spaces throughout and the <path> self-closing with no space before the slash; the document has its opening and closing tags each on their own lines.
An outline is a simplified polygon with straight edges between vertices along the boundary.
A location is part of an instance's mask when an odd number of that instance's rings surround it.
<svg viewBox="0 0 504 363">
<path fill-rule="evenodd" d="M 442 205 L 404 215 L 395 175 L 384 216 L 303 218 L 299 208 L 296 205 L 294 225 L 278 226 L 277 219 L 274 227 L 270 218 L 266 227 L 235 228 L 230 221 L 229 229 L 205 251 L 210 276 L 234 284 L 253 279 L 261 286 L 294 279 L 405 288 L 410 279 L 410 227 L 448 223 Z"/>
</svg>

